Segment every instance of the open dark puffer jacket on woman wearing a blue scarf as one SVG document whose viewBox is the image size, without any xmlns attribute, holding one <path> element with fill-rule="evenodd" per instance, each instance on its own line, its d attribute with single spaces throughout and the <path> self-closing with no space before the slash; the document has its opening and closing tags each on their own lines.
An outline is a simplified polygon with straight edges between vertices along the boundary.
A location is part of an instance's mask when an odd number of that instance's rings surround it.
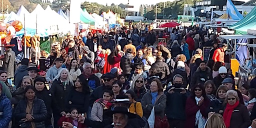
<svg viewBox="0 0 256 128">
<path fill-rule="evenodd" d="M 154 106 L 154 115 L 155 116 L 164 116 L 164 109 L 166 107 L 166 95 L 163 92 L 158 92 L 158 95 L 155 99 L 154 104 L 151 103 L 152 96 L 151 91 L 145 93 L 141 99 L 141 105 L 143 109 L 143 115 L 148 118 L 151 110 Z"/>
</svg>

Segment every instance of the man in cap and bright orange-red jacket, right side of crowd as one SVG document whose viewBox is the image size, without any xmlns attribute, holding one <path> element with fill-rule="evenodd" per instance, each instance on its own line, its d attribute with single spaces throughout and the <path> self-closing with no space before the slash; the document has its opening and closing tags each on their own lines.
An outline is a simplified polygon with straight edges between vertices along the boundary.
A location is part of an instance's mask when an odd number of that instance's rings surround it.
<svg viewBox="0 0 256 128">
<path fill-rule="evenodd" d="M 220 61 L 224 64 L 224 53 L 225 53 L 226 49 L 227 49 L 227 44 L 223 43 L 221 45 L 221 47 L 217 48 L 214 51 L 213 56 L 212 56 L 212 59 L 214 60 L 214 62 Z"/>
</svg>

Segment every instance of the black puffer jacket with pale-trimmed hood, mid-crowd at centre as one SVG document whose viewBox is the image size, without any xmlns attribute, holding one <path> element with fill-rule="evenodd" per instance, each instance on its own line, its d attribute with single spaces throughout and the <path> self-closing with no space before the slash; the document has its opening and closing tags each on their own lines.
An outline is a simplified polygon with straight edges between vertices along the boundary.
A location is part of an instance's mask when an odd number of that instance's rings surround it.
<svg viewBox="0 0 256 128">
<path fill-rule="evenodd" d="M 133 59 L 133 55 L 131 53 L 126 52 L 124 56 L 121 57 L 120 67 L 122 69 L 122 74 L 130 74 L 131 71 L 131 60 Z"/>
</svg>

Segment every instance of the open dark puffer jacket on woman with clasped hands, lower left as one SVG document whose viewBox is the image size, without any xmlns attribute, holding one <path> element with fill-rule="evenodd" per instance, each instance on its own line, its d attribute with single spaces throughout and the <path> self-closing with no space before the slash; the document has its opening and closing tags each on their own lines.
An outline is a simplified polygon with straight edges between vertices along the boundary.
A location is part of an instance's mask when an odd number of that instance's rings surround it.
<svg viewBox="0 0 256 128">
<path fill-rule="evenodd" d="M 20 100 L 17 104 L 17 107 L 14 112 L 14 117 L 17 120 L 20 120 L 22 118 L 26 118 L 26 105 L 27 105 L 27 100 L 23 99 Z M 33 100 L 33 108 L 32 108 L 32 113 L 33 113 L 33 122 L 35 123 L 36 128 L 44 128 L 44 120 L 46 119 L 47 116 L 47 109 L 44 105 L 43 100 L 34 98 Z"/>
</svg>

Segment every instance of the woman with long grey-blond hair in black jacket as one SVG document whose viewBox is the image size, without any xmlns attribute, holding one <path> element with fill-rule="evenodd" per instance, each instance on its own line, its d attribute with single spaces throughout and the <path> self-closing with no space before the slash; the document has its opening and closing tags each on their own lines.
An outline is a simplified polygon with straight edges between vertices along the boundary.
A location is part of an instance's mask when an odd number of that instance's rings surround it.
<svg viewBox="0 0 256 128">
<path fill-rule="evenodd" d="M 72 77 L 68 73 L 66 68 L 62 68 L 58 71 L 58 74 L 52 80 L 52 85 L 50 92 L 52 93 L 52 98 L 56 104 L 56 107 L 52 114 L 54 118 L 54 127 L 57 127 L 57 120 L 60 118 L 60 114 L 65 115 L 67 111 L 66 103 L 68 91 L 71 90 L 73 86 Z"/>
</svg>

